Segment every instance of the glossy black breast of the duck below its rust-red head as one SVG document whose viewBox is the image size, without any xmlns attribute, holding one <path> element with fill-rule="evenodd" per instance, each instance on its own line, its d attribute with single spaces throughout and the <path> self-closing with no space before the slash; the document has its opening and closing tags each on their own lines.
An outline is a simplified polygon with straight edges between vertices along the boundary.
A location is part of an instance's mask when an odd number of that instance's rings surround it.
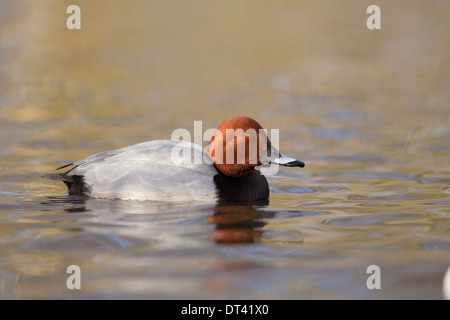
<svg viewBox="0 0 450 320">
<path fill-rule="evenodd" d="M 220 203 L 264 202 L 269 200 L 269 184 L 259 171 L 242 177 L 228 177 L 219 172 L 214 176 Z"/>
</svg>

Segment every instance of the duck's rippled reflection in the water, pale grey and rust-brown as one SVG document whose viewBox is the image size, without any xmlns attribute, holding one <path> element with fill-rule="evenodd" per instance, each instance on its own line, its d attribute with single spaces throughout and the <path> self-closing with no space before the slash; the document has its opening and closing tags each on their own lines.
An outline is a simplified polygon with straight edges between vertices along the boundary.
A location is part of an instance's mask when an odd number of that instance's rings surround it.
<svg viewBox="0 0 450 320">
<path fill-rule="evenodd" d="M 130 222 L 134 222 L 135 228 L 139 227 L 147 231 L 151 228 L 152 223 L 174 216 L 178 218 L 184 216 L 187 219 L 183 222 L 179 221 L 177 224 L 201 224 L 205 221 L 201 217 L 204 217 L 205 213 L 210 214 L 211 211 L 214 211 L 213 215 L 207 216 L 207 223 L 216 226 L 214 235 L 211 237 L 216 243 L 255 242 L 262 236 L 262 228 L 266 225 L 260 219 L 272 218 L 274 215 L 274 212 L 258 211 L 255 206 L 250 204 L 210 208 L 204 205 L 194 206 L 191 203 L 158 204 L 149 201 L 91 199 L 81 196 L 48 197 L 47 201 L 42 201 L 41 204 L 43 207 L 47 207 L 44 211 L 58 210 L 63 206 L 66 213 L 80 213 L 78 215 L 79 221 L 92 221 L 95 224 L 102 223 L 104 226 L 121 225 L 124 221 L 129 226 Z M 257 203 L 257 205 L 258 208 L 262 208 L 263 204 Z M 160 215 L 166 215 L 166 217 Z M 62 217 L 68 216 L 63 215 Z M 72 220 L 72 222 L 76 222 L 76 220 Z M 89 226 L 93 227 L 94 225 L 87 224 L 86 226 L 89 228 Z M 83 231 L 83 229 L 65 228 L 61 231 Z M 131 233 L 136 234 L 136 230 L 132 230 Z M 173 236 L 177 235 L 173 234 Z"/>
</svg>

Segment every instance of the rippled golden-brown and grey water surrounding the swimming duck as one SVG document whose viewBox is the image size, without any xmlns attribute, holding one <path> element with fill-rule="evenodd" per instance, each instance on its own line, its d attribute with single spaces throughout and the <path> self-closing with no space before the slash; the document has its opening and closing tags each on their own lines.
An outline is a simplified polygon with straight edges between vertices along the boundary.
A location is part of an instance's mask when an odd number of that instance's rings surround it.
<svg viewBox="0 0 450 320">
<path fill-rule="evenodd" d="M 0 298 L 443 297 L 448 1 L 74 4 L 81 30 L 68 3 L 0 2 Z M 269 177 L 268 205 L 95 200 L 40 178 L 233 115 L 306 162 Z"/>
</svg>

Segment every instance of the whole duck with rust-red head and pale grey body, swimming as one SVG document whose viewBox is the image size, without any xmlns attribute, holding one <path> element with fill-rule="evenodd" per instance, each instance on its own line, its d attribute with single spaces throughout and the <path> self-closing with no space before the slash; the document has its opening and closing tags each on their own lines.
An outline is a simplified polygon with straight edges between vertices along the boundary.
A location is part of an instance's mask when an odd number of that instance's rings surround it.
<svg viewBox="0 0 450 320">
<path fill-rule="evenodd" d="M 235 116 L 216 129 L 206 148 L 184 140 L 147 141 L 91 155 L 44 177 L 62 181 L 69 195 L 91 198 L 267 202 L 269 185 L 258 170 L 263 165 L 303 168 L 305 163 L 279 152 L 256 120 Z"/>
</svg>

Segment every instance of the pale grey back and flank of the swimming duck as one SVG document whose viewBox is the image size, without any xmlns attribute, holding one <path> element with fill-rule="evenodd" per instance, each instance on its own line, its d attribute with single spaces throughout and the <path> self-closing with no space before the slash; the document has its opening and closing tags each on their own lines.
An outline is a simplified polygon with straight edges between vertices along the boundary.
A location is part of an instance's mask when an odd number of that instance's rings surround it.
<svg viewBox="0 0 450 320">
<path fill-rule="evenodd" d="M 193 159 L 202 161 L 195 164 Z M 63 174 L 69 180 L 65 181 L 69 191 L 95 198 L 217 201 L 217 170 L 203 161 L 203 148 L 192 143 L 149 141 L 98 153 L 72 165 Z"/>
</svg>

